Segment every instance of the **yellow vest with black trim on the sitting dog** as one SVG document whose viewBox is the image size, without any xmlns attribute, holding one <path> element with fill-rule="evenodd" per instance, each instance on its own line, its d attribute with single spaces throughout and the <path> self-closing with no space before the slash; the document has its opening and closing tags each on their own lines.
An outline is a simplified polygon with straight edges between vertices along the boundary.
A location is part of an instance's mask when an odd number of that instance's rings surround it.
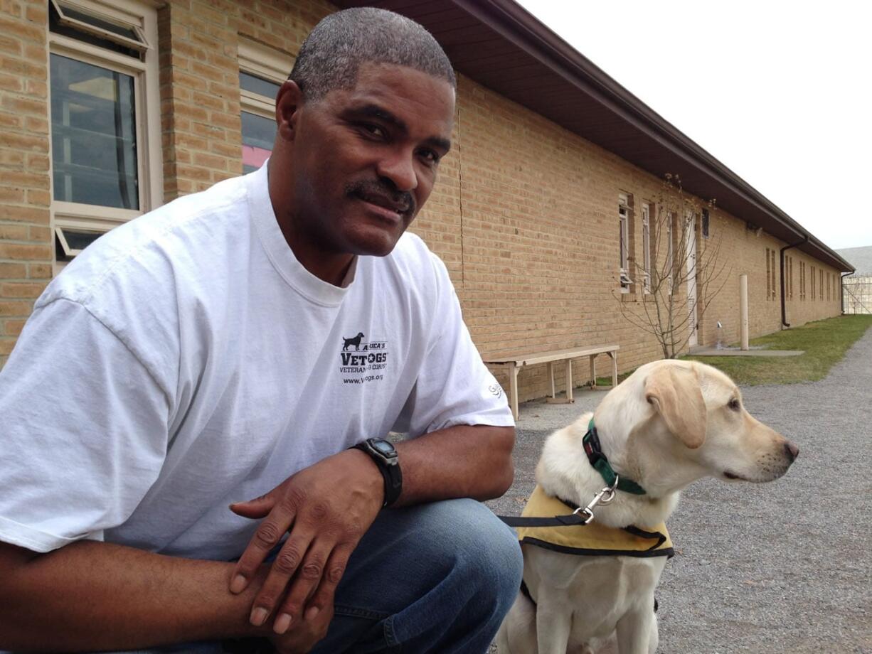
<svg viewBox="0 0 872 654">
<path fill-rule="evenodd" d="M 538 484 L 524 507 L 522 517 L 571 514 L 568 504 L 545 494 Z M 672 556 L 672 542 L 661 522 L 653 531 L 637 527 L 605 527 L 596 521 L 569 527 L 519 527 L 522 544 L 553 549 L 565 554 L 588 556 Z"/>
</svg>

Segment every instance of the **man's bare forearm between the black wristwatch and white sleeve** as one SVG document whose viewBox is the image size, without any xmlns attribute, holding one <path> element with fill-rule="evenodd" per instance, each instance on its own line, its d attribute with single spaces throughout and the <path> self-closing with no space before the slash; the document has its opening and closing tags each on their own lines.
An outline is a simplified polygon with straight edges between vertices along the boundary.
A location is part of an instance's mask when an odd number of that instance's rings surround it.
<svg viewBox="0 0 872 654">
<path fill-rule="evenodd" d="M 403 471 L 398 506 L 499 497 L 512 485 L 514 427 L 453 426 L 397 444 Z"/>
</svg>

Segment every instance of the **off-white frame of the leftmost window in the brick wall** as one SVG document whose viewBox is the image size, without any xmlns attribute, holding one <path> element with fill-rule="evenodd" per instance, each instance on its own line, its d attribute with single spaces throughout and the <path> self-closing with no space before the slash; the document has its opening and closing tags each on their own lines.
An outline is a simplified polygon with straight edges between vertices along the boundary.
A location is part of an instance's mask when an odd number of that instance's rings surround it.
<svg viewBox="0 0 872 654">
<path fill-rule="evenodd" d="M 58 6 L 58 0 L 51 0 Z M 77 19 L 64 17 L 63 7 L 83 11 L 112 23 L 130 27 L 142 37 L 142 42 L 133 41 L 111 31 L 103 31 Z M 157 208 L 163 202 L 163 168 L 160 152 L 160 71 L 158 68 L 158 17 L 159 3 L 150 0 L 61 0 L 61 22 L 75 25 L 82 31 L 97 34 L 112 42 L 143 52 L 142 60 L 127 57 L 99 46 L 87 44 L 76 38 L 48 32 L 46 61 L 51 54 L 76 59 L 85 64 L 97 65 L 133 77 L 134 109 L 136 112 L 136 157 L 139 209 L 101 207 L 80 202 L 54 199 L 54 171 L 49 139 L 49 180 L 51 184 L 51 225 L 58 235 L 58 242 L 68 258 L 77 250 L 64 248 L 63 230 L 106 232 L 138 215 Z M 104 33 L 105 32 L 105 33 Z M 51 80 L 49 80 L 47 112 L 51 130 Z M 69 250 L 69 251 L 67 251 Z M 56 262 L 56 272 L 65 262 Z"/>
</svg>

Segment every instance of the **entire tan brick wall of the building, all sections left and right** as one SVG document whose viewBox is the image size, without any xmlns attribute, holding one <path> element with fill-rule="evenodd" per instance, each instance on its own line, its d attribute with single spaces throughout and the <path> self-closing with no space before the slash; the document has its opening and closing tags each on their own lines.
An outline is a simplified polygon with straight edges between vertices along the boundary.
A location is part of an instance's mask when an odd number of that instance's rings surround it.
<svg viewBox="0 0 872 654">
<path fill-rule="evenodd" d="M 165 200 L 242 170 L 240 37 L 293 56 L 331 10 L 321 0 L 171 0 L 160 10 Z M 0 356 L 5 356 L 51 275 L 44 3 L 0 0 L 0 34 Z M 661 355 L 653 337 L 620 314 L 622 307 L 638 314 L 645 305 L 640 283 L 629 295 L 619 293 L 617 196 L 623 192 L 634 199 L 630 256 L 639 260 L 641 201 L 655 199 L 660 187 L 651 174 L 461 75 L 453 150 L 412 230 L 445 260 L 484 355 L 617 343 L 620 369 L 628 370 Z M 765 252 L 778 252 L 784 243 L 757 235 L 724 212 L 712 214 L 711 232 L 712 239 L 723 238 L 722 256 L 731 268 L 724 290 L 700 321 L 700 342 L 715 342 L 717 320 L 725 342 L 739 338 L 743 272 L 749 278 L 752 335 L 778 330 L 780 303 L 766 296 Z M 712 242 L 701 239 L 700 252 Z M 809 297 L 800 301 L 800 260 L 820 264 L 796 249 L 788 252 L 795 257 L 788 321 L 798 325 L 838 314 L 836 294 L 830 301 L 812 300 L 810 283 Z M 578 363 L 580 381 L 587 362 Z M 544 365 L 524 371 L 521 398 L 545 394 L 544 375 Z M 560 383 L 560 366 L 556 376 Z"/>
</svg>

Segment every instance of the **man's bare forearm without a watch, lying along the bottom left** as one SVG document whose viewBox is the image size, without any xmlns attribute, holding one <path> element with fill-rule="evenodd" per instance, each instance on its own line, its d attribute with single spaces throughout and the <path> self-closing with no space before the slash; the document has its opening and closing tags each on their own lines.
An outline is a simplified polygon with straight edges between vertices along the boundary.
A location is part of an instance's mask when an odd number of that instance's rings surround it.
<svg viewBox="0 0 872 654">
<path fill-rule="evenodd" d="M 255 635 L 259 583 L 228 591 L 231 563 L 75 542 L 42 555 L 0 543 L 0 650 L 127 650 Z"/>
</svg>

